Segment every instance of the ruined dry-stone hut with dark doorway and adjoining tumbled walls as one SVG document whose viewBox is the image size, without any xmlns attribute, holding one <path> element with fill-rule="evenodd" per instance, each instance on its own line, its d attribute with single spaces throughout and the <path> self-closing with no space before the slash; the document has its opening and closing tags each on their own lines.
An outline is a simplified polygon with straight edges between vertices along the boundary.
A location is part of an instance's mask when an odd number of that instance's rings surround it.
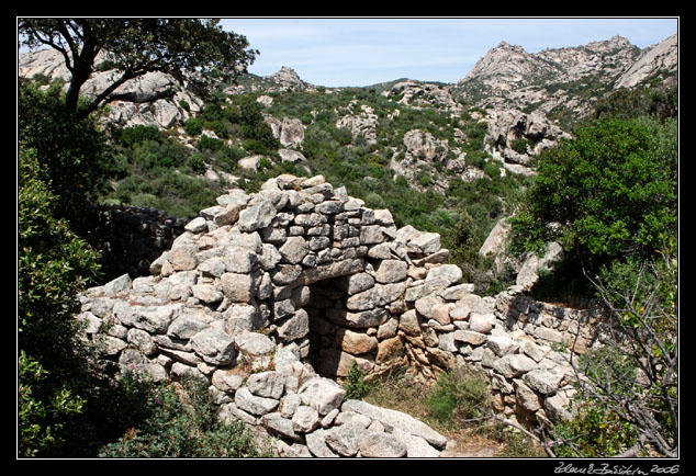
<svg viewBox="0 0 696 476">
<path fill-rule="evenodd" d="M 220 196 L 150 275 L 89 290 L 78 317 L 122 372 L 203 379 L 222 419 L 278 437 L 280 455 L 446 454 L 447 439 L 412 417 L 345 399 L 336 377 L 353 361 L 425 377 L 467 365 L 490 378 L 501 415 L 566 417 L 568 349 L 593 344 L 593 313 L 515 287 L 480 297 L 448 254 L 439 235 L 397 229 L 322 175 L 280 175 Z"/>
</svg>

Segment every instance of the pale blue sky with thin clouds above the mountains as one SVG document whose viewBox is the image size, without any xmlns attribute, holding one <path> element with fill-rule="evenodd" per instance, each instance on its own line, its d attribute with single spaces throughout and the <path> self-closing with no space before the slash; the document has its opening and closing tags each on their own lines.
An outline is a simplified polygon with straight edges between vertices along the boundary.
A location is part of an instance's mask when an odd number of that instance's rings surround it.
<svg viewBox="0 0 696 476">
<path fill-rule="evenodd" d="M 538 53 L 620 35 L 644 48 L 676 33 L 678 19 L 228 18 L 222 25 L 259 49 L 251 73 L 288 66 L 312 84 L 347 87 L 398 78 L 457 82 L 503 41 Z"/>
</svg>

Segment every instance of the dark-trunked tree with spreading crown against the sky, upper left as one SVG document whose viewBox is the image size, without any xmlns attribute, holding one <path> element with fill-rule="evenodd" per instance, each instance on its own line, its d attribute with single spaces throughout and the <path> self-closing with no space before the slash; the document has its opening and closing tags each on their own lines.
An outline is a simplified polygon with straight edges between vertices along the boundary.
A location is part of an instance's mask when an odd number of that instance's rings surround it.
<svg viewBox="0 0 696 476">
<path fill-rule="evenodd" d="M 70 71 L 65 107 L 86 117 L 126 81 L 161 71 L 184 77 L 204 91 L 215 80 L 234 80 L 254 63 L 257 50 L 245 36 L 225 32 L 211 19 L 19 19 L 22 43 L 58 50 Z M 80 89 L 105 53 L 116 79 L 78 111 Z M 188 77 L 195 71 L 195 77 Z"/>
</svg>

